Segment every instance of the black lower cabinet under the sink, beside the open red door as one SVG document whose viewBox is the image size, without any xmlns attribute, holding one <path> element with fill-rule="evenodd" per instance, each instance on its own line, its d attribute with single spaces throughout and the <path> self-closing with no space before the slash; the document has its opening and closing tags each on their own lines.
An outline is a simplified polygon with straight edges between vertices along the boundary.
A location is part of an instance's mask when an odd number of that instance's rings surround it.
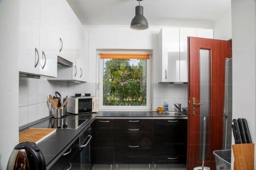
<svg viewBox="0 0 256 170">
<path fill-rule="evenodd" d="M 187 119 L 154 120 L 154 163 L 186 163 Z"/>
</svg>

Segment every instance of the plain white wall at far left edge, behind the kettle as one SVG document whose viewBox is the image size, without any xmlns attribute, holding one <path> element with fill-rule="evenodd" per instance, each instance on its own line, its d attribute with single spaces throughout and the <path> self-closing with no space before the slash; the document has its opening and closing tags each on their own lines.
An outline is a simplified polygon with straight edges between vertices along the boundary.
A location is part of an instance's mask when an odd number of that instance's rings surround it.
<svg viewBox="0 0 256 170">
<path fill-rule="evenodd" d="M 0 1 L 0 169 L 18 143 L 19 1 Z"/>
</svg>

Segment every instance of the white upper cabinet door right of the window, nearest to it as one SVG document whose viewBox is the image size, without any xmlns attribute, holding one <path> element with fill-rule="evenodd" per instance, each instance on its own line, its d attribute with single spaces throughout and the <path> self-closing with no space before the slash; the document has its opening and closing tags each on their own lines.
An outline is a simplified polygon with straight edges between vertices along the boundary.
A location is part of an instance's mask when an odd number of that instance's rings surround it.
<svg viewBox="0 0 256 170">
<path fill-rule="evenodd" d="M 162 29 L 163 82 L 179 82 L 180 42 L 179 29 Z"/>
</svg>

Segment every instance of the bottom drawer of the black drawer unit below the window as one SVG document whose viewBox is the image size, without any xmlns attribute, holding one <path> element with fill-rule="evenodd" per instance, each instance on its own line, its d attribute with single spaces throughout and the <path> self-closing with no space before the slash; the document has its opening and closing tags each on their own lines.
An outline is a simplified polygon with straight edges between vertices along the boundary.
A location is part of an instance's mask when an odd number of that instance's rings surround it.
<svg viewBox="0 0 256 170">
<path fill-rule="evenodd" d="M 152 148 L 115 145 L 115 163 L 152 163 Z"/>
</svg>

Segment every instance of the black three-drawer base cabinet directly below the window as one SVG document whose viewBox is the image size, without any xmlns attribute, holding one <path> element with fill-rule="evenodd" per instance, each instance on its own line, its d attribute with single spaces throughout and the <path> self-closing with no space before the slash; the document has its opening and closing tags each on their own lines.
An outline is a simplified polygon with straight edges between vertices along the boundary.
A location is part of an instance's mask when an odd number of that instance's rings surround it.
<svg viewBox="0 0 256 170">
<path fill-rule="evenodd" d="M 115 119 L 115 163 L 153 162 L 153 119 Z"/>
</svg>

